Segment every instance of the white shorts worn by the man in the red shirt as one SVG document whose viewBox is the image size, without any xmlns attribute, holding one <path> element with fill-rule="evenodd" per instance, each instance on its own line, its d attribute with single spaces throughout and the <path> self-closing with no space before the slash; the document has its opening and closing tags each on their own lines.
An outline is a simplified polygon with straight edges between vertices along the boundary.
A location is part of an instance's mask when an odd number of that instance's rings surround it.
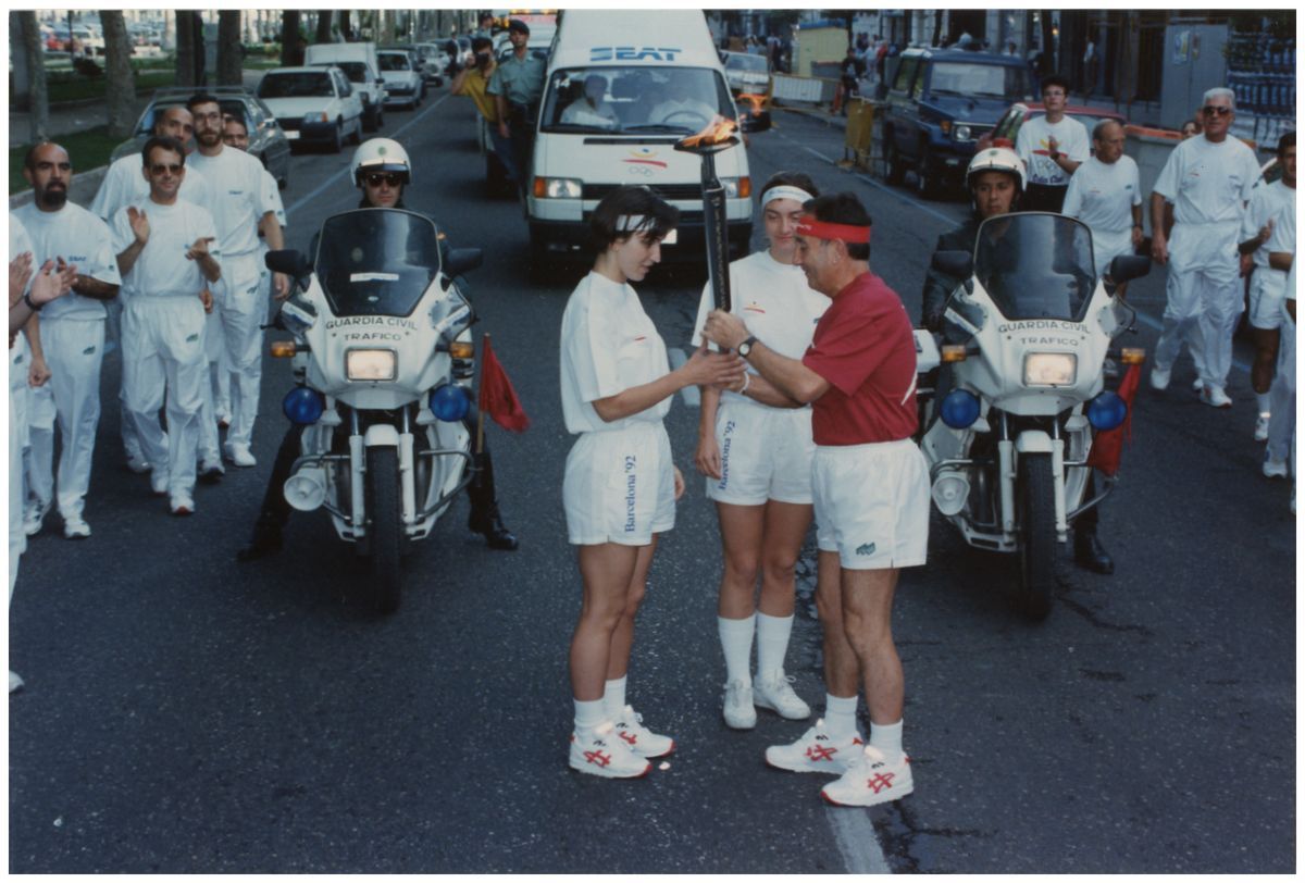
<svg viewBox="0 0 1305 883">
<path fill-rule="evenodd" d="M 910 438 L 818 446 L 812 462 L 816 544 L 848 570 L 923 565 L 929 549 L 929 467 Z"/>
</svg>

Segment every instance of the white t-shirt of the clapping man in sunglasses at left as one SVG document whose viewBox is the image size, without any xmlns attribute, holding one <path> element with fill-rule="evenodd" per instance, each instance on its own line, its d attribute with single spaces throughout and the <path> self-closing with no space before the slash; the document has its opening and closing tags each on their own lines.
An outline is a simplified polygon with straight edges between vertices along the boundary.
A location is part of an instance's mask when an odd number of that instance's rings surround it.
<svg viewBox="0 0 1305 883">
<path fill-rule="evenodd" d="M 170 206 L 145 200 L 133 203 L 150 222 L 150 239 L 145 243 L 132 270 L 123 277 L 123 293 L 129 297 L 194 297 L 207 284 L 198 261 L 185 253 L 201 236 L 217 236 L 213 215 L 193 202 L 177 197 Z M 114 215 L 111 232 L 114 250 L 119 254 L 136 241 L 132 222 L 121 207 Z M 209 253 L 221 263 L 218 243 L 209 243 Z"/>
</svg>

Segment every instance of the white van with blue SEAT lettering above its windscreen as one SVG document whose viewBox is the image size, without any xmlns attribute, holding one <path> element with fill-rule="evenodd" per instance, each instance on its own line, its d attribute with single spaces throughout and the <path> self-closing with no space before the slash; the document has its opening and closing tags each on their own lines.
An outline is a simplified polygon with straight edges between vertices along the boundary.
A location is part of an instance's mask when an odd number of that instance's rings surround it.
<svg viewBox="0 0 1305 883">
<path fill-rule="evenodd" d="M 701 254 L 702 160 L 675 143 L 716 115 L 739 119 L 701 10 L 565 10 L 526 193 L 531 262 L 586 250 L 589 215 L 621 184 L 645 184 L 680 209 L 676 244 L 663 244 L 663 260 Z M 728 197 L 729 250 L 741 256 L 752 237 L 743 143 L 718 153 L 715 164 Z"/>
</svg>

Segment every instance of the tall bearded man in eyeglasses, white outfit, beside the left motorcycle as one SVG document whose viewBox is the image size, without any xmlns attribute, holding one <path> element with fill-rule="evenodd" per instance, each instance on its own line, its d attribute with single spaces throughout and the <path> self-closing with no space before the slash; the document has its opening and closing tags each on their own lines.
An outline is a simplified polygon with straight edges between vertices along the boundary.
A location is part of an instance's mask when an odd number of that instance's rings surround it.
<svg viewBox="0 0 1305 883">
<path fill-rule="evenodd" d="M 253 421 L 258 415 L 258 383 L 262 378 L 262 329 L 268 301 L 258 284 L 258 231 L 268 247 L 284 248 L 277 213 L 264 194 L 262 163 L 247 153 L 227 147 L 223 141 L 222 108 L 211 95 L 193 95 L 187 102 L 194 117 L 194 138 L 200 146 L 191 158 L 209 180 L 215 196 L 209 206 L 218 226 L 222 252 L 222 280 L 214 287 L 214 309 L 207 333 L 219 334 L 222 352 L 234 374 L 231 428 L 223 449 L 236 466 L 254 466 L 249 450 Z M 290 290 L 288 280 L 273 274 L 278 295 Z M 210 363 L 214 352 L 209 350 Z M 221 363 L 219 363 L 221 369 Z M 205 420 L 207 423 L 207 420 Z M 201 429 L 207 432 L 207 427 Z"/>
</svg>

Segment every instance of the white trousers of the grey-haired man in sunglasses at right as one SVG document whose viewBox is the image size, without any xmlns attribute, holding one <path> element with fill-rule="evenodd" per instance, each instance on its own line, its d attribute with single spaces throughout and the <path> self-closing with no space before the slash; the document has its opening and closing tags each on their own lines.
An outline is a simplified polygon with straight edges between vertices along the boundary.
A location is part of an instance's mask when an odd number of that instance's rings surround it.
<svg viewBox="0 0 1305 883">
<path fill-rule="evenodd" d="M 1237 222 L 1174 224 L 1156 368 L 1169 369 L 1184 340 L 1206 386 L 1223 389 L 1232 368 L 1232 333 L 1241 314 Z"/>
</svg>

